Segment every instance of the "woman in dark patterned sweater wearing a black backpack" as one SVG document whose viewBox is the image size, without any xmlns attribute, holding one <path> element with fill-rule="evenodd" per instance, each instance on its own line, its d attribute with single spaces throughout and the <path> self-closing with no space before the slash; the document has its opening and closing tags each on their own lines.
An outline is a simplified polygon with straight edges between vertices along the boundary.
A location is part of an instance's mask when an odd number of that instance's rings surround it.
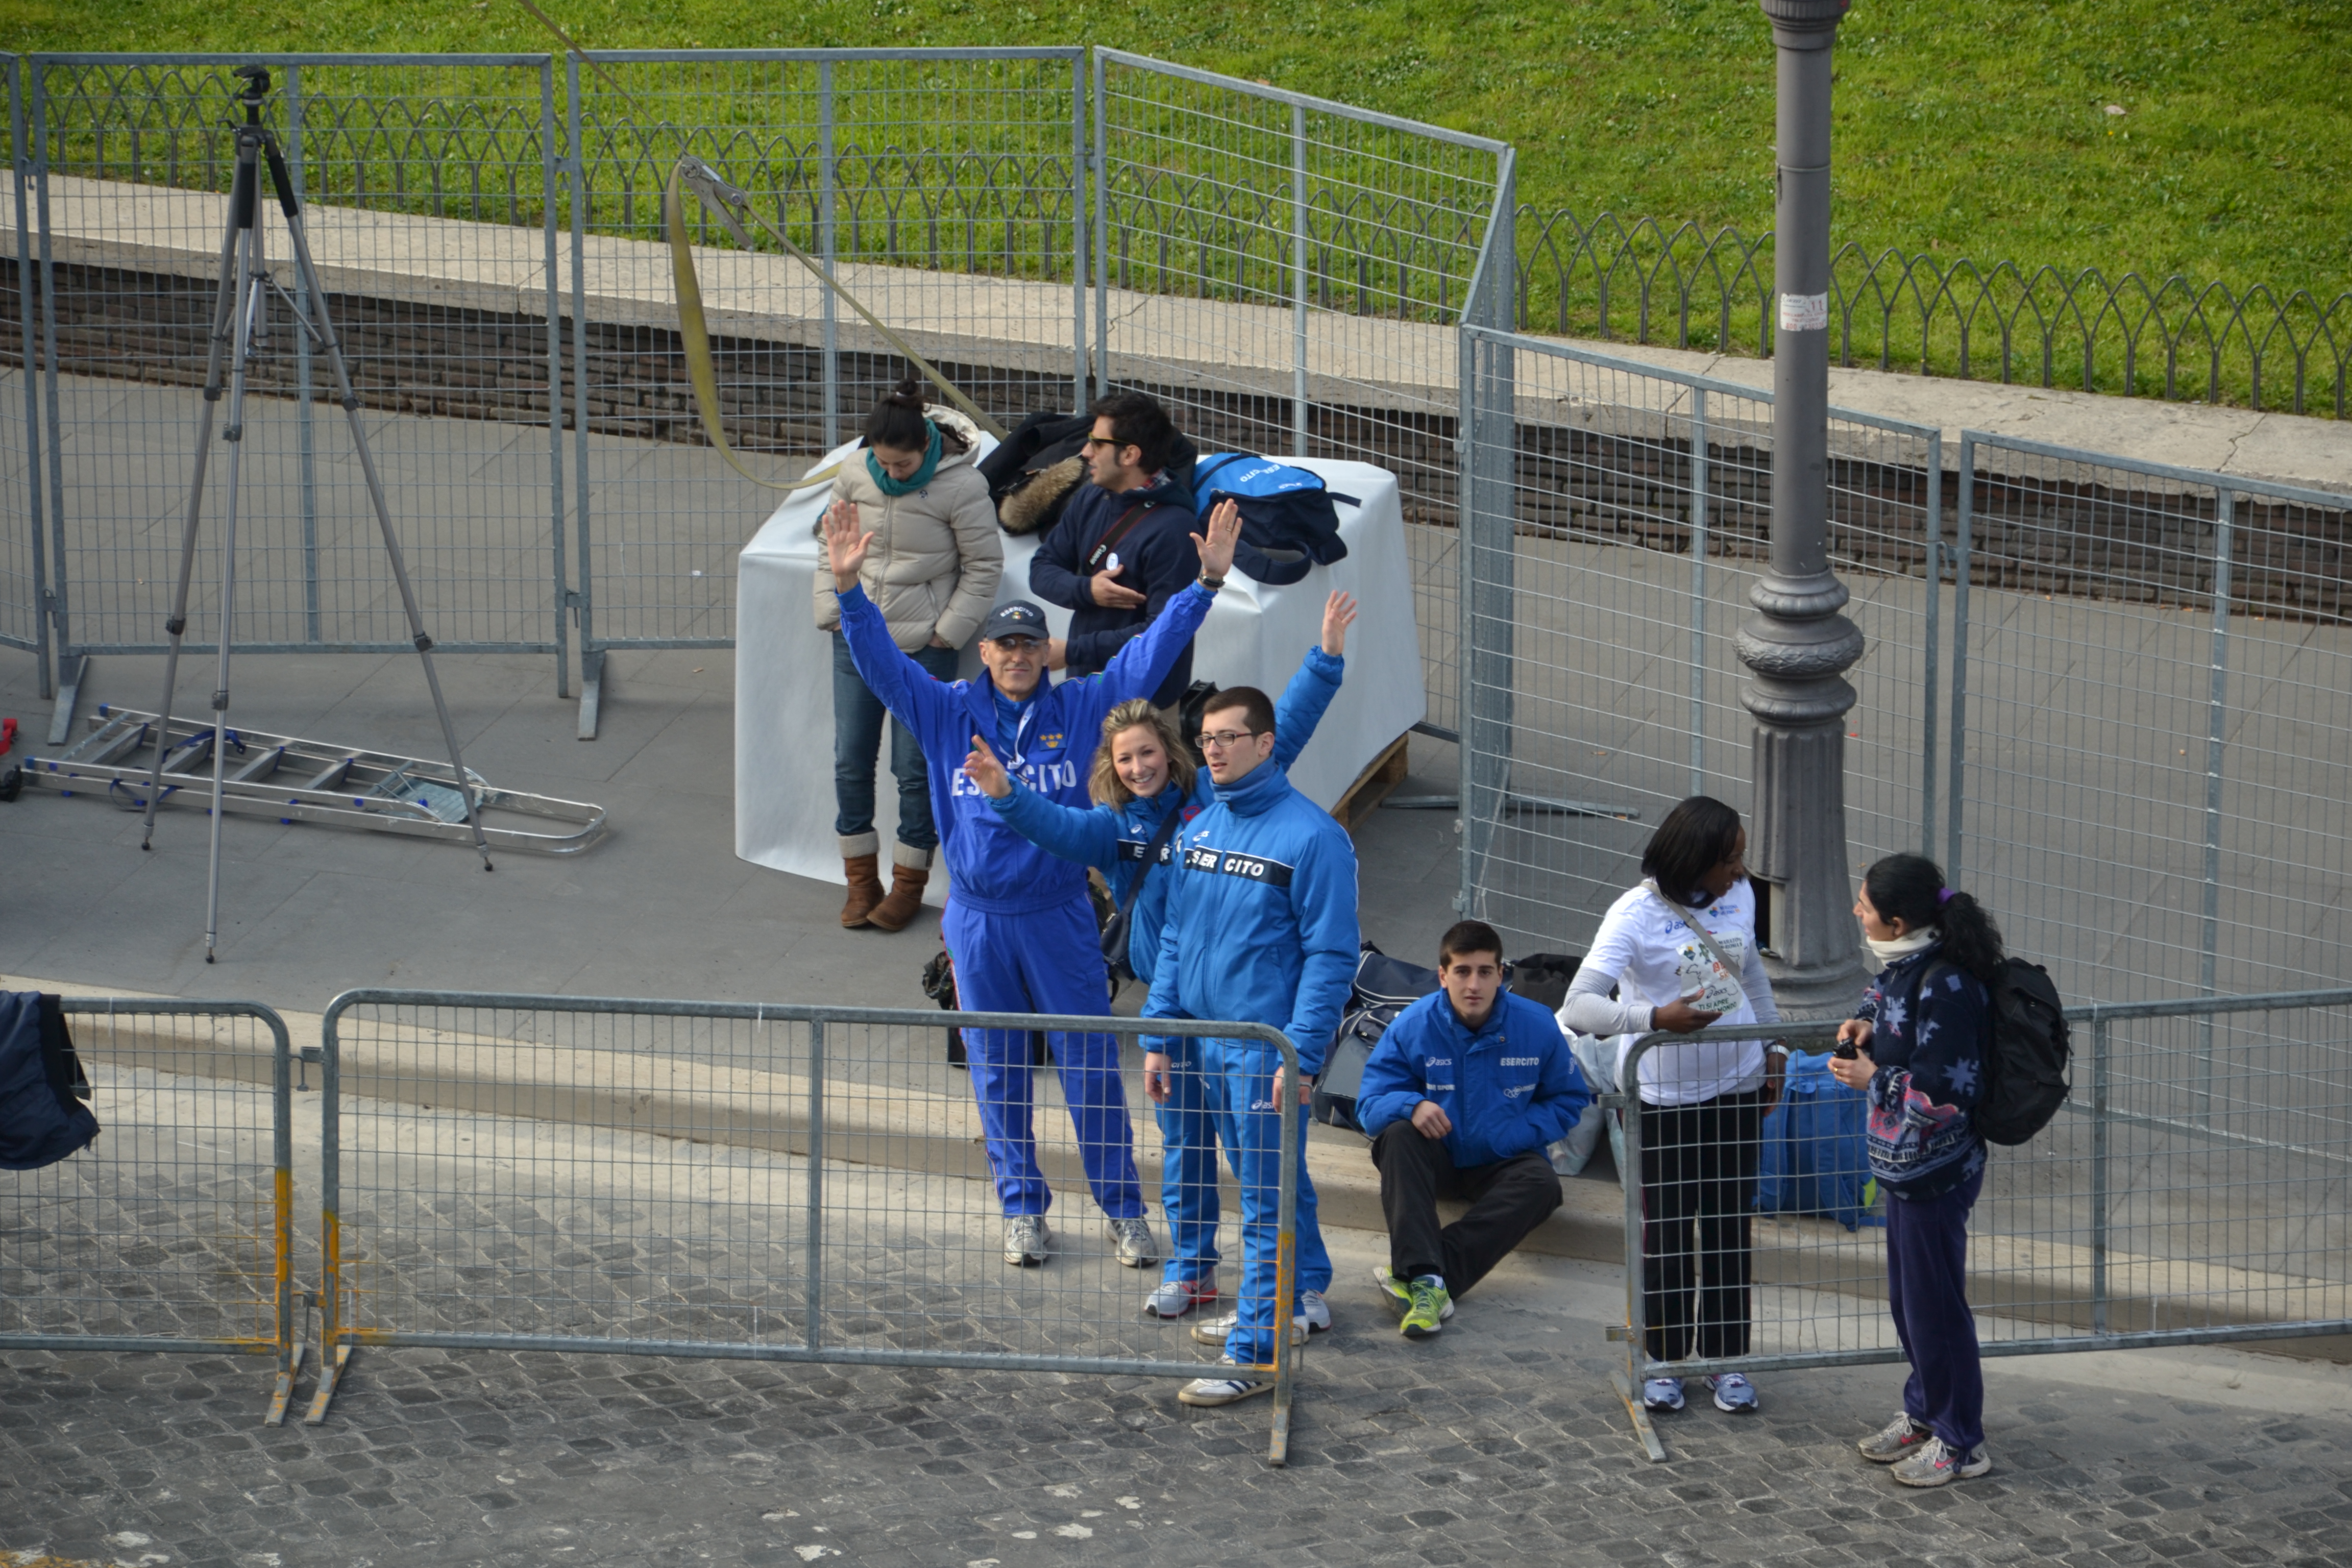
<svg viewBox="0 0 2352 1568">
<path fill-rule="evenodd" d="M 1870 1173 L 1886 1192 L 1886 1307 L 1910 1359 L 1903 1408 L 1858 1448 L 1903 1486 L 1973 1481 L 1985 1375 L 1969 1312 L 1969 1211 L 1985 1187 L 1983 1103 L 2002 933 L 1926 856 L 1863 872 L 1853 917 L 1882 964 L 1837 1030 L 1830 1072 L 1870 1100 Z"/>
</svg>

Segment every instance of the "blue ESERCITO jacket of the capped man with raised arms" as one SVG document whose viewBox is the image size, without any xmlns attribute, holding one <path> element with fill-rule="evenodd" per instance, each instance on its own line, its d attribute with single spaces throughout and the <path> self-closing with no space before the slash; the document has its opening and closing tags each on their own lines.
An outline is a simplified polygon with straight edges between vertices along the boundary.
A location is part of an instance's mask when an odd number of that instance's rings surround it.
<svg viewBox="0 0 2352 1568">
<path fill-rule="evenodd" d="M 1103 731 L 1103 715 L 1127 698 L 1150 696 L 1176 656 L 1192 646 L 1192 632 L 1214 597 L 1197 583 L 1185 588 L 1169 599 L 1167 614 L 1110 658 L 1108 670 L 1040 686 L 1023 708 L 1021 745 L 1007 757 L 997 743 L 995 686 L 988 675 L 974 682 L 934 679 L 898 651 L 863 588 L 851 585 L 840 595 L 849 658 L 882 705 L 922 743 L 955 903 L 983 914 L 1028 914 L 1084 900 L 1087 872 L 1014 832 L 978 785 L 964 778 L 971 736 L 985 736 L 1004 771 L 1044 799 L 1084 809 L 1087 759 Z M 1350 905 L 1350 917 L 1352 912 Z"/>
</svg>

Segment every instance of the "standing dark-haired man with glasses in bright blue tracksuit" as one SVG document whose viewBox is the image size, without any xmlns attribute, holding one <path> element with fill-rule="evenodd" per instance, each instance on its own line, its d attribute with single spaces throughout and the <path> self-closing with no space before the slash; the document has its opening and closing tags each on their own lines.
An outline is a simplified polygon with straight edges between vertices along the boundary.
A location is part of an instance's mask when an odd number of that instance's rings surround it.
<svg viewBox="0 0 2352 1568">
<path fill-rule="evenodd" d="M 1298 1053 L 1303 1079 L 1312 1079 L 1355 978 L 1355 844 L 1270 766 L 1275 705 L 1263 691 L 1218 691 L 1200 729 L 1216 804 L 1176 839 L 1181 856 L 1143 1016 L 1272 1025 Z M 1167 1072 L 1164 1056 L 1143 1058 L 1145 1079 L 1155 1070 Z M 1242 1185 L 1242 1293 L 1223 1333 L 1232 1371 L 1188 1382 L 1178 1399 L 1223 1406 L 1272 1387 L 1244 1368 L 1272 1361 L 1277 1309 L 1305 1314 L 1310 1326 L 1331 1321 L 1322 1302 L 1331 1258 L 1305 1171 L 1308 1084 L 1284 1081 L 1279 1051 L 1254 1039 L 1202 1041 L 1202 1072 Z M 1296 1295 L 1277 1302 L 1284 1114 L 1298 1117 L 1298 1279 Z"/>
</svg>

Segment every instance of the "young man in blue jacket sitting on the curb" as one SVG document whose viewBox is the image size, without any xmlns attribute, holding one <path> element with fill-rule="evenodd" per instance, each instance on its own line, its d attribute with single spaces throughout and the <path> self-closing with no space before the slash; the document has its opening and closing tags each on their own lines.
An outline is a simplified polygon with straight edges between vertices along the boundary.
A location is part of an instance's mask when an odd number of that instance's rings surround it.
<svg viewBox="0 0 2352 1568">
<path fill-rule="evenodd" d="M 1437 945 L 1444 990 L 1397 1013 L 1364 1063 L 1357 1124 L 1388 1213 L 1374 1279 L 1425 1340 L 1510 1248 L 1559 1208 L 1545 1145 L 1592 1103 L 1559 1023 L 1503 990 L 1503 938 L 1465 919 Z M 1470 1213 L 1437 1227 L 1437 1199 Z"/>
</svg>

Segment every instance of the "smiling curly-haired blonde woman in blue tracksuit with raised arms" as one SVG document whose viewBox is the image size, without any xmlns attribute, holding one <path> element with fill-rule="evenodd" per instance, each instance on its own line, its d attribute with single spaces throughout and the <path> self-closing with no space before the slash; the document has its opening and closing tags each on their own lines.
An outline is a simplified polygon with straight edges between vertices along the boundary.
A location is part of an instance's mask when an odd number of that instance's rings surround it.
<svg viewBox="0 0 2352 1568">
<path fill-rule="evenodd" d="M 1355 599 L 1334 592 L 1324 602 L 1322 646 L 1308 649 L 1298 675 L 1275 705 L 1275 766 L 1289 766 L 1315 738 L 1331 698 L 1338 696 L 1348 625 Z M 1063 860 L 1091 865 L 1110 884 L 1110 900 L 1124 912 L 1124 947 L 1105 954 L 1127 964 L 1127 973 L 1145 985 L 1160 961 L 1160 933 L 1167 924 L 1167 898 L 1176 832 L 1214 799 L 1216 785 L 1207 769 L 1192 764 L 1192 750 L 1148 701 L 1120 703 L 1103 717 L 1103 745 L 1094 752 L 1087 792 L 1094 809 L 1056 804 L 1004 771 L 993 752 L 974 750 L 964 771 L 995 806 L 1004 825 L 1030 844 Z M 1120 922 L 1105 938 L 1122 931 Z M 1160 1119 L 1160 1206 L 1169 1215 L 1171 1258 L 1160 1286 L 1145 1298 L 1152 1316 L 1174 1319 L 1216 1300 L 1216 1117 L 1209 1110 L 1207 1084 L 1192 1039 L 1152 1039 L 1148 1051 L 1169 1058 L 1164 1072 L 1143 1074 L 1143 1091 Z M 1305 1281 L 1310 1328 L 1329 1328 L 1322 1286 L 1329 1274 Z M 1216 1342 L 1223 1342 L 1223 1328 Z"/>
</svg>

